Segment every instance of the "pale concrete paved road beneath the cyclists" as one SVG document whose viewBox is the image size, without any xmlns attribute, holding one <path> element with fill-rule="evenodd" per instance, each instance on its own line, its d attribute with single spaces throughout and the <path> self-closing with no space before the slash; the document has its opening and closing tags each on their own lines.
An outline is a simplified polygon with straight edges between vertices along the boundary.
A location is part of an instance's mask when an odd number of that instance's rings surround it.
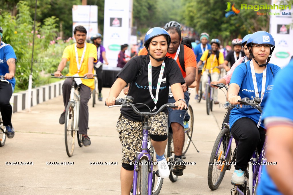
<svg viewBox="0 0 293 195">
<path fill-rule="evenodd" d="M 108 96 L 109 88 L 103 89 Z M 123 97 L 122 94 L 120 94 Z M 225 102 L 219 91 L 219 100 Z M 32 107 L 33 113 L 14 113 L 16 130 L 0 148 L 0 194 L 120 194 L 121 145 L 116 132 L 119 108 L 97 102 L 89 107 L 90 147 L 76 144 L 69 158 L 64 146 L 64 125 L 59 124 L 62 96 Z M 219 189 L 211 191 L 207 185 L 207 169 L 212 146 L 219 133 L 226 110 L 214 105 L 207 115 L 205 101 L 197 103 L 192 93 L 195 126 L 192 140 L 200 153 L 190 146 L 185 161 L 188 165 L 176 183 L 165 179 L 161 194 L 230 194 L 231 175 L 226 171 Z M 91 100 L 89 102 L 91 105 Z M 234 148 L 235 146 L 233 146 Z M 6 162 L 33 162 L 33 165 L 6 165 Z M 46 162 L 74 162 L 74 165 L 46 165 Z M 118 165 L 90 165 L 91 161 L 118 162 Z"/>
</svg>

